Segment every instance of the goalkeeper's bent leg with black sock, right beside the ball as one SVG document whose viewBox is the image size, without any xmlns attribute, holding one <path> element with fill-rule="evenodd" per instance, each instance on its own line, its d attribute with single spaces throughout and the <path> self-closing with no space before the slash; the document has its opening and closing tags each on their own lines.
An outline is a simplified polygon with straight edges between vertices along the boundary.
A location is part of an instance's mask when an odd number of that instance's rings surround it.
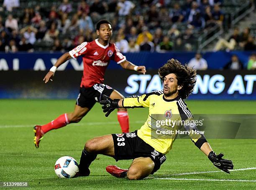
<svg viewBox="0 0 256 190">
<path fill-rule="evenodd" d="M 90 175 L 89 166 L 96 159 L 97 154 L 114 157 L 114 142 L 111 134 L 95 137 L 85 143 L 77 176 Z"/>
</svg>

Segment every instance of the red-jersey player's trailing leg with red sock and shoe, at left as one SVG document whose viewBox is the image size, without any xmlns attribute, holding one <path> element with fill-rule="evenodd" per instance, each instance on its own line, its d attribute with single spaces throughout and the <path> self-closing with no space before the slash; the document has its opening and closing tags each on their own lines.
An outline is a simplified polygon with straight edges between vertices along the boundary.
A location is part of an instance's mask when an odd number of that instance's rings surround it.
<svg viewBox="0 0 256 190">
<path fill-rule="evenodd" d="M 87 107 L 82 108 L 81 106 L 75 105 L 74 111 L 72 113 L 62 114 L 58 118 L 45 125 L 36 125 L 34 127 L 34 144 L 36 148 L 39 147 L 39 142 L 43 138 L 44 134 L 52 129 L 59 129 L 64 127 L 69 123 L 79 122 L 87 114 L 88 111 L 90 111 L 90 109 Z"/>
</svg>

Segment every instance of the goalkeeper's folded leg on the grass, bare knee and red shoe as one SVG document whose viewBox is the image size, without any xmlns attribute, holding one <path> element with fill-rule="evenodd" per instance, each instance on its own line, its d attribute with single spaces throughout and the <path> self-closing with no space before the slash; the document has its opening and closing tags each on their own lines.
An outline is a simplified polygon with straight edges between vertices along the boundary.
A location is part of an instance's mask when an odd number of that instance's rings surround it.
<svg viewBox="0 0 256 190">
<path fill-rule="evenodd" d="M 141 180 L 151 174 L 154 166 L 155 164 L 150 157 L 138 157 L 133 160 L 128 170 L 113 165 L 106 167 L 106 170 L 115 177 L 127 177 L 129 180 Z"/>
</svg>

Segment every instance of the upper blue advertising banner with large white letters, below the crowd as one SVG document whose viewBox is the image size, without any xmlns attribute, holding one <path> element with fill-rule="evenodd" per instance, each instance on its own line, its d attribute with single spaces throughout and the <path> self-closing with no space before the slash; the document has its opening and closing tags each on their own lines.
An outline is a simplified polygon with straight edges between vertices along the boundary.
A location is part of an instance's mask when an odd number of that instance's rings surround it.
<svg viewBox="0 0 256 190">
<path fill-rule="evenodd" d="M 246 67 L 248 57 L 253 52 L 245 51 L 218 51 L 206 52 L 202 56 L 208 63 L 208 69 L 220 69 L 225 66 L 231 59 L 233 54 L 236 54 L 240 61 Z M 9 70 L 33 70 L 33 71 L 46 71 L 49 70 L 57 61 L 62 53 L 0 53 L 0 71 Z M 145 65 L 147 69 L 157 69 L 166 63 L 167 60 L 175 58 L 181 63 L 188 63 L 191 58 L 195 56 L 195 52 L 170 52 L 170 53 L 125 53 L 126 58 L 135 63 L 136 65 Z M 121 69 L 117 63 L 111 61 L 109 69 Z M 83 64 L 82 58 L 70 59 L 58 70 L 64 71 L 72 69 L 75 71 L 82 71 Z"/>
</svg>

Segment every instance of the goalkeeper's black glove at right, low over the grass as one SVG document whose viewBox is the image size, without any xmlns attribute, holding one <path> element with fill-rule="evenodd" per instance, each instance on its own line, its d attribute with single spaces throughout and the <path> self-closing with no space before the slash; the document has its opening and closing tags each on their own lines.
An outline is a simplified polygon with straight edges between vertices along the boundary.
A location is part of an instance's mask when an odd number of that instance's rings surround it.
<svg viewBox="0 0 256 190">
<path fill-rule="evenodd" d="M 209 153 L 208 158 L 215 167 L 218 167 L 226 173 L 230 173 L 228 170 L 233 170 L 234 165 L 231 160 L 223 159 L 223 156 L 223 153 L 216 155 L 215 152 L 212 151 Z"/>
</svg>

